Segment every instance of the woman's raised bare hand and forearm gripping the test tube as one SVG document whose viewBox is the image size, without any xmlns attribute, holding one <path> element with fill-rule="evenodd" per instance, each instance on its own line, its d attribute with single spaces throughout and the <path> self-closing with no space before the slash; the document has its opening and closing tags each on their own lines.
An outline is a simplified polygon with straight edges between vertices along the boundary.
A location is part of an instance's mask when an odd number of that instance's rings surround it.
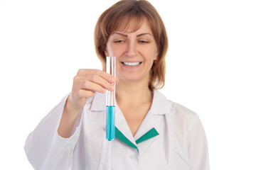
<svg viewBox="0 0 256 170">
<path fill-rule="evenodd" d="M 98 69 L 80 69 L 73 79 L 73 88 L 63 109 L 58 135 L 70 137 L 78 113 L 85 106 L 87 98 L 95 96 L 96 92 L 104 94 L 106 89 L 113 91 L 114 81 L 114 77 Z"/>
</svg>

